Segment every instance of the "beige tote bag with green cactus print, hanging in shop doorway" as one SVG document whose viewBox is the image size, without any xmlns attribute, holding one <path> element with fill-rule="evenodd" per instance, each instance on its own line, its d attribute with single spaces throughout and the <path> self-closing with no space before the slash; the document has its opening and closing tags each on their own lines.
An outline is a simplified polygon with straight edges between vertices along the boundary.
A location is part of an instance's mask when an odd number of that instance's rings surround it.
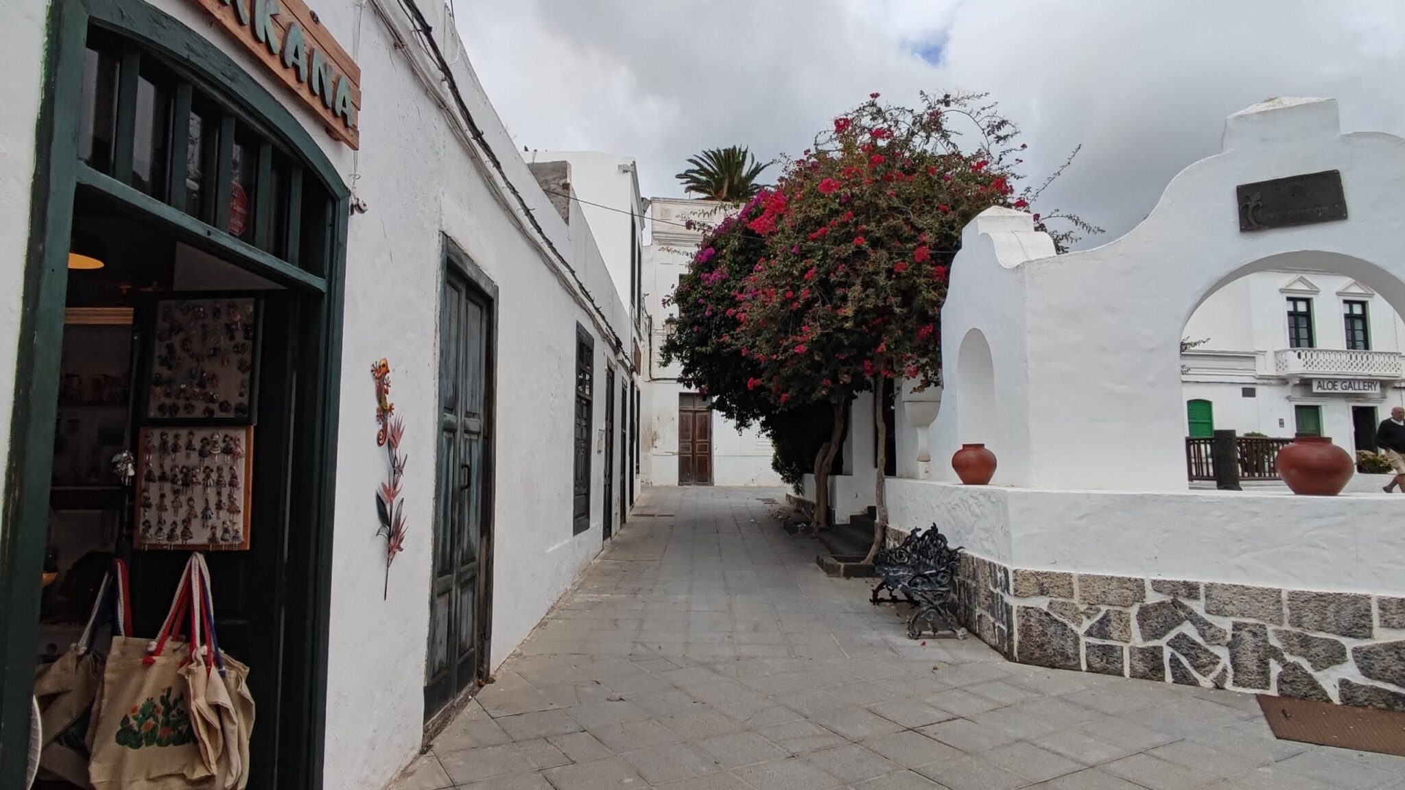
<svg viewBox="0 0 1405 790">
<path fill-rule="evenodd" d="M 205 790 L 214 772 L 201 759 L 191 723 L 190 687 L 181 668 L 195 659 L 192 638 L 174 641 L 200 614 L 191 595 L 192 558 L 177 585 L 171 609 L 156 640 L 112 640 L 103 672 L 94 724 L 89 782 L 94 790 Z"/>
</svg>

